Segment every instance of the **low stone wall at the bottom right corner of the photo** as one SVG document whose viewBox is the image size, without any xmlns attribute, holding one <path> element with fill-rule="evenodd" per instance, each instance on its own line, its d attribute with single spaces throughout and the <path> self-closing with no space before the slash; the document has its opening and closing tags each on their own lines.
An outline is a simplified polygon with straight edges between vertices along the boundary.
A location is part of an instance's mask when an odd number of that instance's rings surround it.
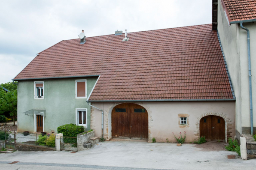
<svg viewBox="0 0 256 170">
<path fill-rule="evenodd" d="M 256 141 L 250 134 L 243 134 L 246 139 L 247 159 L 256 158 Z"/>
</svg>

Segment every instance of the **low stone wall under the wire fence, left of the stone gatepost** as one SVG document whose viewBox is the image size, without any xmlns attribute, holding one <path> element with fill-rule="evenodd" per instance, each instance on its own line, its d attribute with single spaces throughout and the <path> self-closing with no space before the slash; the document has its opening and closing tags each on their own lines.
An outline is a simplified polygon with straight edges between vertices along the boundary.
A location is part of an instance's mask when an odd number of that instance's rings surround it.
<svg viewBox="0 0 256 170">
<path fill-rule="evenodd" d="M 35 146 L 30 144 L 15 144 L 15 150 L 18 151 L 55 151 L 55 148 L 50 148 L 48 146 Z"/>
</svg>

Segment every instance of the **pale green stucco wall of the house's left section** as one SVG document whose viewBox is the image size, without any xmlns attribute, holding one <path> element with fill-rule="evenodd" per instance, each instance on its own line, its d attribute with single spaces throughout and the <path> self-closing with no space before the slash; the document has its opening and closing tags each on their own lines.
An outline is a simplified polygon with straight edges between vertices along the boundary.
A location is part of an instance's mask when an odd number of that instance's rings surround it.
<svg viewBox="0 0 256 170">
<path fill-rule="evenodd" d="M 31 109 L 45 109 L 44 131 L 50 132 L 60 125 L 76 123 L 76 109 L 87 108 L 87 128 L 90 126 L 90 107 L 87 98 L 76 98 L 76 80 L 87 80 L 87 97 L 91 92 L 97 77 L 48 79 L 44 81 L 44 98 L 34 98 L 34 81 L 18 81 L 18 132 L 34 132 L 34 116 L 27 116 L 23 112 Z"/>
</svg>

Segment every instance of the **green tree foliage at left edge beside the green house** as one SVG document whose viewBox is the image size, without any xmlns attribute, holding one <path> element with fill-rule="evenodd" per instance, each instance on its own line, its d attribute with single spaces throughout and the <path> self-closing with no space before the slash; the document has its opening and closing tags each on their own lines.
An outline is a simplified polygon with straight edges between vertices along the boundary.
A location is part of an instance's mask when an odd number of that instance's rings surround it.
<svg viewBox="0 0 256 170">
<path fill-rule="evenodd" d="M 9 82 L 1 84 L 1 86 L 8 89 L 9 92 L 0 88 L 0 114 L 8 113 L 13 119 L 13 125 L 15 125 L 15 117 L 17 116 L 17 85 Z"/>
</svg>

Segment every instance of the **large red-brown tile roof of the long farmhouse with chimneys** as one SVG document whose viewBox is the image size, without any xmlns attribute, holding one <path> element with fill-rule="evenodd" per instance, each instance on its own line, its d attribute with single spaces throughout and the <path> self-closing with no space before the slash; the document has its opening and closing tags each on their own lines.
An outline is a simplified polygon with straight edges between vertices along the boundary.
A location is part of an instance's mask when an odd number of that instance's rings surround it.
<svg viewBox="0 0 256 170">
<path fill-rule="evenodd" d="M 14 80 L 101 75 L 89 101 L 234 99 L 211 24 L 61 41 Z"/>
</svg>

